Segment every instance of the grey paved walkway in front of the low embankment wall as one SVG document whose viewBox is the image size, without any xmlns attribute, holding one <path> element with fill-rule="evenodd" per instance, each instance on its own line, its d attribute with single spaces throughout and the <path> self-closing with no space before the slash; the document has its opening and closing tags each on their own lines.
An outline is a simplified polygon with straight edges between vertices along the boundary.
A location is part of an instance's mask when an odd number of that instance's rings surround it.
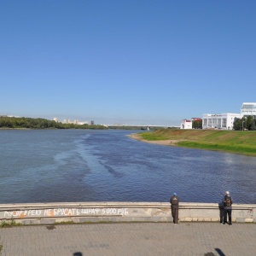
<svg viewBox="0 0 256 256">
<path fill-rule="evenodd" d="M 256 224 L 115 223 L 0 229 L 2 255 L 256 255 Z M 0 255 L 1 255 L 0 253 Z M 2 256 L 1 255 L 1 256 Z"/>
</svg>

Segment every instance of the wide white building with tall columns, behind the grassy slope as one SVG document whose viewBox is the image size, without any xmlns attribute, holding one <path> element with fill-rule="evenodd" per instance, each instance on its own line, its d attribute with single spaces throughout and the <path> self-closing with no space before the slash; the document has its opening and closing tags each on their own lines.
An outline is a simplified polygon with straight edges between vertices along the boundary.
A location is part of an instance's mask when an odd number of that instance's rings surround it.
<svg viewBox="0 0 256 256">
<path fill-rule="evenodd" d="M 204 113 L 202 118 L 202 129 L 224 129 L 232 130 L 234 119 L 241 119 L 240 113 Z"/>
</svg>

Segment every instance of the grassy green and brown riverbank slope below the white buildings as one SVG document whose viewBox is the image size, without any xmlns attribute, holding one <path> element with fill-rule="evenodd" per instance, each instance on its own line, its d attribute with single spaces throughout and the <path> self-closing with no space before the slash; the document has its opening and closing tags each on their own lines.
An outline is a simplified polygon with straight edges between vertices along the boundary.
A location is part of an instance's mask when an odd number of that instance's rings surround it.
<svg viewBox="0 0 256 256">
<path fill-rule="evenodd" d="M 177 140 L 176 145 L 188 148 L 221 150 L 256 156 L 256 131 L 158 130 L 140 134 L 148 141 Z"/>
</svg>

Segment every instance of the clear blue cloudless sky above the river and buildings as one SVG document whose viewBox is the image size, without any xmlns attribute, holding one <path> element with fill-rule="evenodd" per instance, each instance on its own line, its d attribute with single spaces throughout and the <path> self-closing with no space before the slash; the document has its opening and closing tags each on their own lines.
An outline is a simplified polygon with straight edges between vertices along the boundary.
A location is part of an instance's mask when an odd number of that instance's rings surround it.
<svg viewBox="0 0 256 256">
<path fill-rule="evenodd" d="M 254 0 L 0 0 L 0 114 L 179 125 L 242 102 Z"/>
</svg>

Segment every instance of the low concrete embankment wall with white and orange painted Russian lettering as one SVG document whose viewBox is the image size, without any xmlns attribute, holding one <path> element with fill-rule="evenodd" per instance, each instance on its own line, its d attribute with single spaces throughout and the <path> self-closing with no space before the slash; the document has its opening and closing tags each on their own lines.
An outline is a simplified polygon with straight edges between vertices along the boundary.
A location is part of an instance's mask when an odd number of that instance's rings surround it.
<svg viewBox="0 0 256 256">
<path fill-rule="evenodd" d="M 232 221 L 256 223 L 256 204 L 234 204 Z M 186 203 L 179 206 L 180 222 L 221 222 L 218 203 Z M 96 222 L 172 222 L 170 203 L 75 202 L 0 205 L 0 222 L 59 224 Z"/>
</svg>

